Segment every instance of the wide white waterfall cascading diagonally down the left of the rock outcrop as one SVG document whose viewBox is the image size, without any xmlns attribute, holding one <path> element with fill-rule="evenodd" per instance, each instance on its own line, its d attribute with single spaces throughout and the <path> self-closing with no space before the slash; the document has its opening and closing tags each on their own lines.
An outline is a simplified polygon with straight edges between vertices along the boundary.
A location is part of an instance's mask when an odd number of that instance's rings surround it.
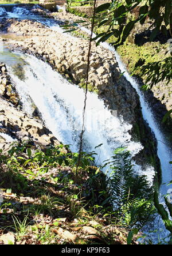
<svg viewBox="0 0 172 256">
<path fill-rule="evenodd" d="M 32 114 L 34 103 L 49 130 L 64 144 L 71 144 L 71 149 L 76 152 L 79 149 L 79 135 L 83 122 L 83 89 L 69 84 L 48 64 L 35 57 L 28 56 L 25 61 L 29 64 L 24 66 L 24 81 L 15 75 L 11 67 L 8 68 L 24 104 L 24 110 Z M 97 150 L 97 164 L 109 159 L 113 155 L 113 150 L 120 146 L 126 146 L 131 156 L 135 156 L 143 148 L 139 142 L 131 140 L 128 133 L 131 125 L 112 115 L 94 93 L 88 92 L 85 117 L 84 150 Z M 99 144 L 103 145 L 100 149 L 95 149 Z M 154 169 L 145 169 L 146 173 L 142 167 L 135 165 L 135 172 L 147 174 L 151 185 Z"/>
</svg>

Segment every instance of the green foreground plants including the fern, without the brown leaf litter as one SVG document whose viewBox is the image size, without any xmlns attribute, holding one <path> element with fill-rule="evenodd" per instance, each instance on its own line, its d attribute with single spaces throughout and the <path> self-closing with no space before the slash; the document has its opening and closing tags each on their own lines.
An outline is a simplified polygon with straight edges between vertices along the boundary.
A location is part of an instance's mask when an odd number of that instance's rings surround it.
<svg viewBox="0 0 172 256">
<path fill-rule="evenodd" d="M 68 216 L 77 217 L 83 223 L 89 222 L 90 216 L 91 218 L 99 216 L 105 218 L 107 223 L 122 225 L 129 230 L 132 228 L 127 239 L 127 243 L 131 243 L 136 234 L 134 228 L 139 229 L 146 223 L 154 208 L 150 197 L 151 189 L 148 188 L 144 177 L 134 175 L 128 152 L 116 149 L 115 156 L 106 161 L 104 167 L 110 166 L 111 171 L 111 177 L 107 179 L 101 172 L 101 167 L 95 166 L 94 151 L 81 153 L 80 166 L 76 175 L 79 153 L 70 152 L 69 145 L 58 145 L 42 151 L 34 149 L 31 144 L 32 141 L 24 141 L 11 145 L 7 153 L 1 150 L 1 167 L 2 165 L 3 168 L 7 167 L 8 172 L 13 171 L 21 184 L 17 190 L 14 183 L 11 184 L 8 193 L 17 191 L 19 194 L 26 194 L 27 191 L 29 195 L 36 195 L 38 200 L 33 205 L 26 206 L 26 209 L 30 209 L 30 213 L 32 212 L 35 216 L 40 213 L 49 214 L 51 217 L 58 216 L 61 209 L 69 209 Z M 100 146 L 101 144 L 97 147 Z M 63 168 L 72 171 L 65 175 Z M 45 190 L 42 189 L 42 185 L 40 186 L 44 183 L 48 186 L 47 179 L 44 180 L 44 174 L 54 169 L 60 171 L 55 177 L 49 174 L 49 179 L 53 190 L 57 189 L 57 194 L 58 186 L 62 188 L 58 196 L 52 195 L 52 190 Z M 42 174 L 41 179 L 39 174 Z M 25 189 L 21 182 L 23 178 L 27 185 Z M 1 186 L 3 186 L 2 183 Z M 34 193 L 30 189 L 33 189 Z M 2 205 L 3 212 L 6 210 L 5 204 L 6 202 Z M 28 232 L 29 217 L 27 215 L 21 220 L 15 217 L 13 219 L 19 240 Z M 42 243 L 45 242 L 49 232 L 44 230 L 40 236 L 37 227 L 34 229 L 38 239 L 42 239 Z"/>
</svg>

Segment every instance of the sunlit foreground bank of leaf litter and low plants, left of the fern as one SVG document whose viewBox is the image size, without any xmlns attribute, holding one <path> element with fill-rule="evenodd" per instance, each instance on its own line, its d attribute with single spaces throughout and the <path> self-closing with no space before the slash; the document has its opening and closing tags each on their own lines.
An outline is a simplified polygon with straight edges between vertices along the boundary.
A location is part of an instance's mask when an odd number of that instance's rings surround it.
<svg viewBox="0 0 172 256">
<path fill-rule="evenodd" d="M 91 155 L 83 156 L 85 166 L 76 174 L 75 154 L 59 146 L 30 150 L 26 141 L 15 144 L 0 161 L 0 244 L 129 243 L 130 227 L 111 214 L 105 175 L 89 166 Z M 138 235 L 131 244 L 138 244 Z"/>
</svg>

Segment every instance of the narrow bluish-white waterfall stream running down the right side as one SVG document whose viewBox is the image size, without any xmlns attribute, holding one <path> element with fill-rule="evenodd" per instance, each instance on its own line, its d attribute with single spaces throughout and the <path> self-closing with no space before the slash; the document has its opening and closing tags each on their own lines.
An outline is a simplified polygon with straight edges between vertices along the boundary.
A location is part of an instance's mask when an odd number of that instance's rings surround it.
<svg viewBox="0 0 172 256">
<path fill-rule="evenodd" d="M 80 29 L 88 33 L 89 35 L 91 34 L 91 31 L 87 28 L 80 27 Z M 93 33 L 92 37 L 96 37 L 96 35 Z M 167 193 L 171 193 L 171 188 L 172 188 L 172 185 L 167 185 L 172 180 L 172 167 L 171 167 L 171 164 L 169 163 L 172 160 L 171 148 L 169 147 L 165 136 L 162 134 L 161 130 L 159 129 L 158 123 L 155 121 L 153 112 L 151 111 L 150 107 L 148 107 L 146 99 L 144 99 L 143 92 L 140 91 L 138 83 L 134 80 L 134 78 L 130 76 L 130 74 L 128 74 L 126 67 L 124 66 L 123 62 L 121 61 L 114 47 L 111 47 L 108 43 L 100 43 L 100 44 L 104 48 L 107 48 L 108 50 L 113 51 L 115 53 L 115 58 L 116 58 L 116 61 L 118 62 L 121 73 L 123 73 L 124 77 L 126 77 L 127 81 L 130 82 L 132 87 L 136 90 L 136 92 L 139 95 L 140 106 L 142 107 L 142 115 L 143 115 L 144 121 L 148 123 L 157 140 L 157 155 L 161 162 L 161 170 L 162 170 L 162 183 L 161 183 L 161 186 L 159 187 L 159 202 L 161 202 L 161 204 L 163 204 L 163 206 L 167 208 L 163 197 Z M 151 240 L 154 239 L 154 243 L 158 243 L 160 240 L 165 239 L 170 234 L 170 232 L 166 230 L 165 225 L 163 224 L 163 221 L 159 216 L 155 217 L 152 228 L 153 228 L 153 231 L 157 230 L 156 235 L 155 234 L 152 235 L 146 232 L 147 230 L 150 230 L 150 227 L 146 227 L 144 229 L 144 232 L 147 234 L 147 236 Z"/>
</svg>

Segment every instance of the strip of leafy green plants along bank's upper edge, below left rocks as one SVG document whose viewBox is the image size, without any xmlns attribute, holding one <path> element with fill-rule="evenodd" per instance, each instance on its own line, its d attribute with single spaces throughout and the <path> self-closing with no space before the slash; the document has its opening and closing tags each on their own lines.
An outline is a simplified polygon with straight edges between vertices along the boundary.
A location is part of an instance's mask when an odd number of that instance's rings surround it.
<svg viewBox="0 0 172 256">
<path fill-rule="evenodd" d="M 32 174 L 32 169 L 37 168 L 37 171 L 46 172 L 47 168 L 57 167 L 61 165 L 73 166 L 77 163 L 79 153 L 72 153 L 68 151 L 69 145 L 58 145 L 52 148 L 47 148 L 45 152 L 42 150 L 35 150 L 32 153 L 30 149 L 30 141 L 18 144 L 14 142 L 8 155 L 0 152 L 0 163 L 7 163 L 11 170 L 23 170 L 28 167 L 27 172 Z M 95 152 L 85 153 L 81 152 L 80 168 L 86 168 L 93 164 Z"/>
</svg>

